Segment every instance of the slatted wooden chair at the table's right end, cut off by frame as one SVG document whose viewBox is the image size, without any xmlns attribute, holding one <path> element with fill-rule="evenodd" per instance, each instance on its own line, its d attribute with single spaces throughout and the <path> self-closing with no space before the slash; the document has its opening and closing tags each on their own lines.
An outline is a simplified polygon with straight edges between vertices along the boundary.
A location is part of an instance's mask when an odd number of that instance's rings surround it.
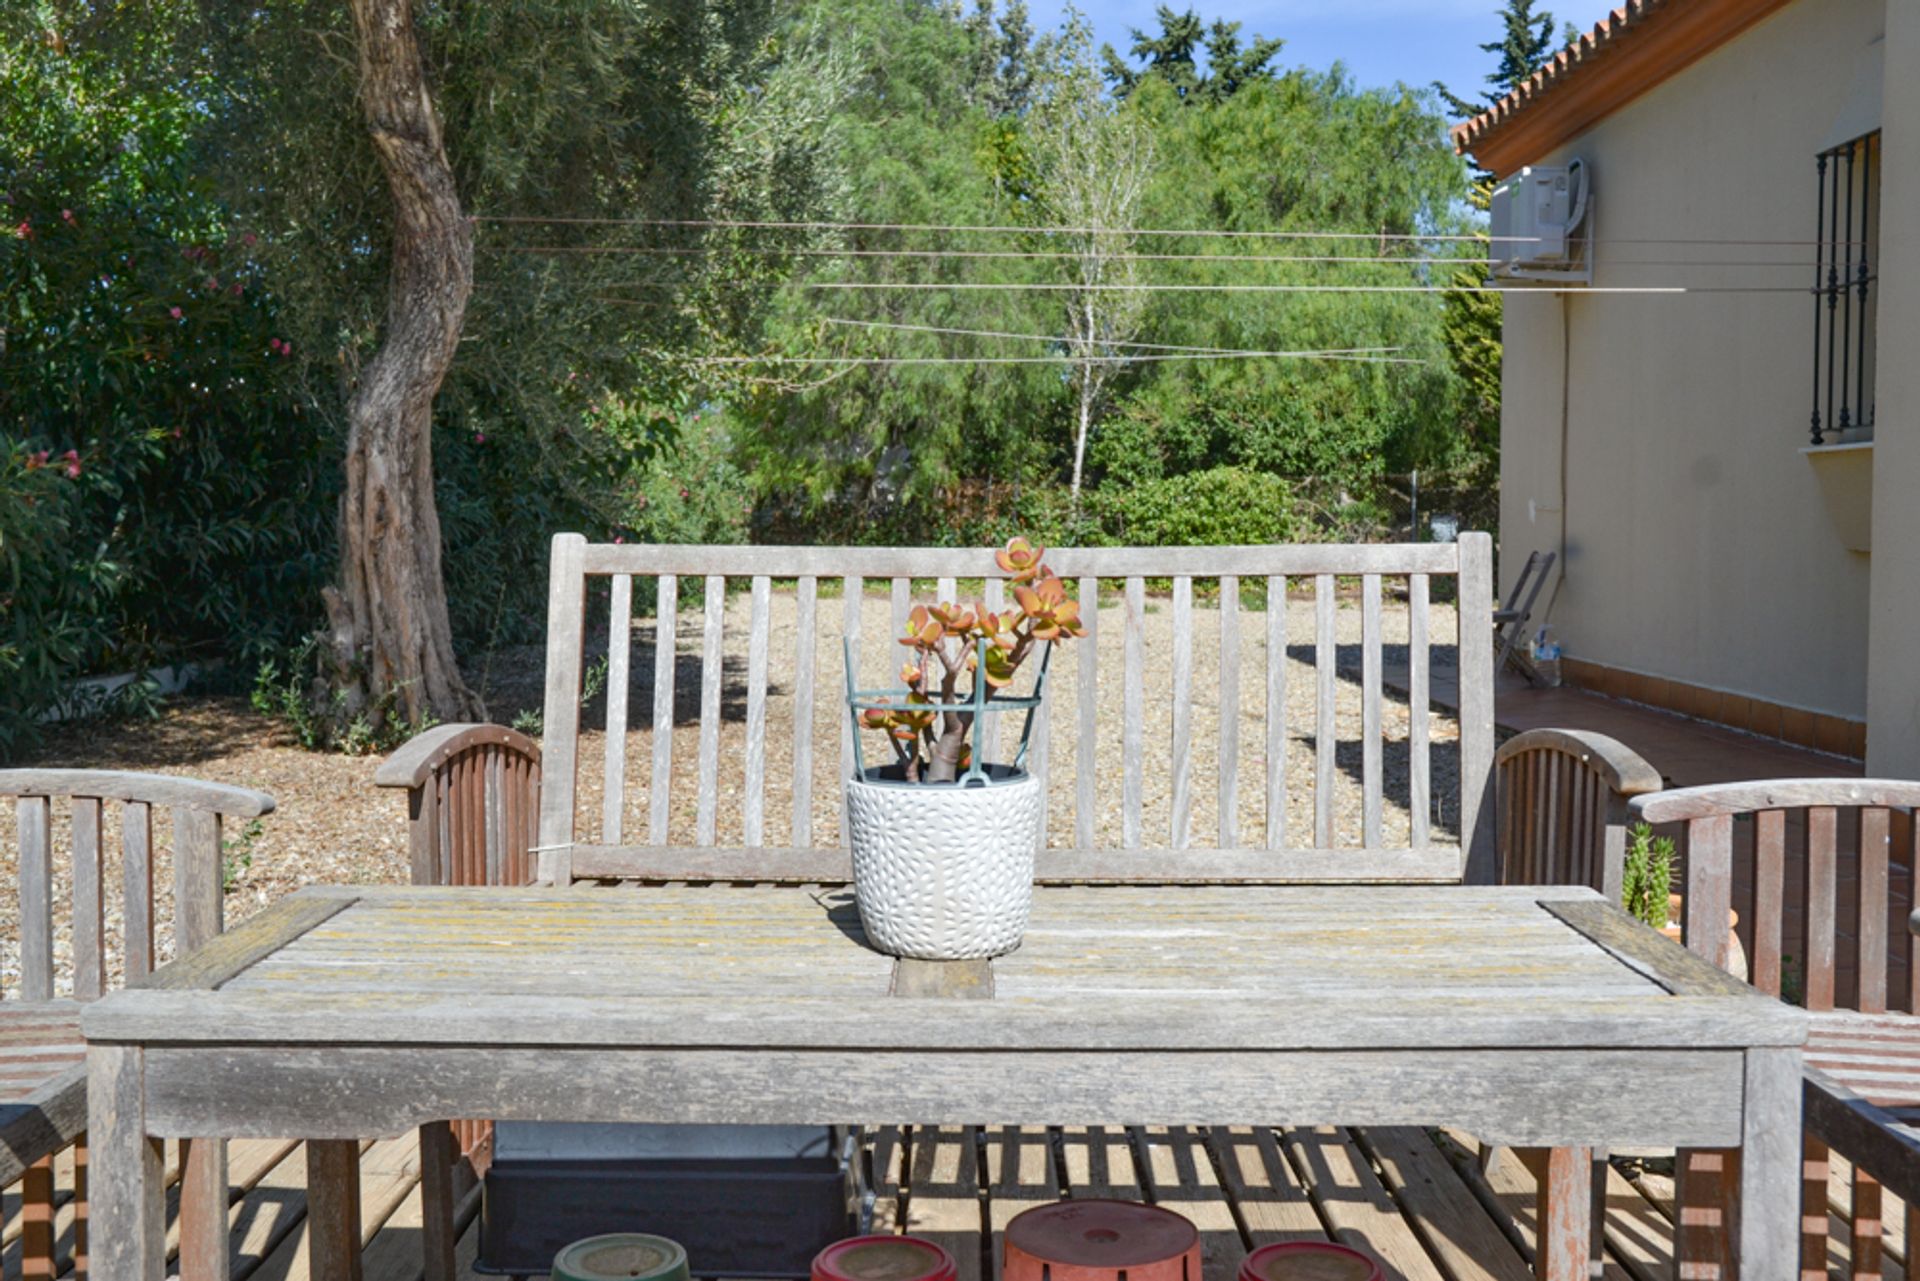
<svg viewBox="0 0 1920 1281">
<path fill-rule="evenodd" d="M 1726 966 L 1740 908 L 1753 985 L 1812 1014 L 1805 1072 L 1803 1275 L 1828 1269 L 1830 1156 L 1851 1164 L 1851 1275 L 1882 1275 L 1882 1189 L 1920 1216 L 1920 782 L 1761 780 L 1636 797 L 1634 818 L 1686 824 L 1686 945 Z M 1803 908 L 1789 910 L 1793 889 Z M 1797 991 L 1795 991 L 1797 989 Z M 1682 1152 L 1682 1275 L 1726 1275 L 1736 1152 Z M 1912 1266 L 1908 1254 L 1908 1268 Z M 1720 1271 L 1715 1273 L 1713 1269 Z"/>
</svg>

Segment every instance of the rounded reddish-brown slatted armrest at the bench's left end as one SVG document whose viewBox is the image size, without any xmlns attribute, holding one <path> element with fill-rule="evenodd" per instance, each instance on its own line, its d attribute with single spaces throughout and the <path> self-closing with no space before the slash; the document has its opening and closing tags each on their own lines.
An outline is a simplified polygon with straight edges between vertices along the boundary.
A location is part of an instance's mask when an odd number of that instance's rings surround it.
<svg viewBox="0 0 1920 1281">
<path fill-rule="evenodd" d="M 445 724 L 380 762 L 407 789 L 415 885 L 524 885 L 540 828 L 540 743 L 495 724 Z"/>
</svg>

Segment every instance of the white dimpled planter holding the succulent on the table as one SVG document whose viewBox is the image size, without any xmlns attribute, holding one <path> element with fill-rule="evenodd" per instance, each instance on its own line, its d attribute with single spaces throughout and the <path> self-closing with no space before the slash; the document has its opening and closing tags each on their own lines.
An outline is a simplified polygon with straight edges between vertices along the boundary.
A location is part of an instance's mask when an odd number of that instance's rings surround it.
<svg viewBox="0 0 1920 1281">
<path fill-rule="evenodd" d="M 973 960 L 1020 947 L 1041 784 L 1008 766 L 989 770 L 983 787 L 847 780 L 854 895 L 877 951 Z"/>
</svg>

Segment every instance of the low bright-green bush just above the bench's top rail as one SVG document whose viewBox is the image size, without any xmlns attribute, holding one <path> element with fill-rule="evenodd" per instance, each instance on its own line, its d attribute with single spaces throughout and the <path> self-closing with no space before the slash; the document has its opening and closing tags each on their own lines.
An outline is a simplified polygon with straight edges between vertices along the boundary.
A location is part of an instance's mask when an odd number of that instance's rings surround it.
<svg viewBox="0 0 1920 1281">
<path fill-rule="evenodd" d="M 1298 534 L 1284 480 L 1246 467 L 1213 467 L 1094 494 L 1092 515 L 1116 544 L 1283 544 Z"/>
</svg>

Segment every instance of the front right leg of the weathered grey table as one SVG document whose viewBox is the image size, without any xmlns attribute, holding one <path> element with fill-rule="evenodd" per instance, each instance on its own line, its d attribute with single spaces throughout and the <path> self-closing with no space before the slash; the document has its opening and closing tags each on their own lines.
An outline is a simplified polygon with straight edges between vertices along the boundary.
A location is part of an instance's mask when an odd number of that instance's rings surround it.
<svg viewBox="0 0 1920 1281">
<path fill-rule="evenodd" d="M 1799 1264 L 1801 1052 L 1747 1051 L 1740 1148 L 1740 1275 L 1791 1281 Z"/>
</svg>

